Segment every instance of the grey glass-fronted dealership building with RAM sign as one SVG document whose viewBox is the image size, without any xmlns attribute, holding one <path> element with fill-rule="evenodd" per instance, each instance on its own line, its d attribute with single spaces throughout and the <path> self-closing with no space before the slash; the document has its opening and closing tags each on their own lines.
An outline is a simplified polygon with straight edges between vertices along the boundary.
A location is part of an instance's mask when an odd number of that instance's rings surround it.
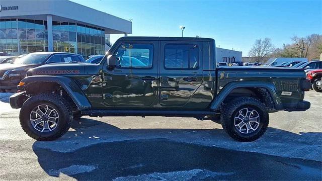
<svg viewBox="0 0 322 181">
<path fill-rule="evenodd" d="M 130 21 L 67 0 L 0 2 L 0 52 L 105 53 L 110 34 L 132 33 Z"/>
</svg>

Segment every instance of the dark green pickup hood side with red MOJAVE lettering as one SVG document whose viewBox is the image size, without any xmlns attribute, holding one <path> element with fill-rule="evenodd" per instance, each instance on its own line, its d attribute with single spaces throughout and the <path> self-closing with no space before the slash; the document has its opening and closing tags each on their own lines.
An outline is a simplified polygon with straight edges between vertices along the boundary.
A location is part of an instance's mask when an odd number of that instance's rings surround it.
<svg viewBox="0 0 322 181">
<path fill-rule="evenodd" d="M 33 68 L 28 75 L 82 75 L 91 63 L 51 63 Z"/>
</svg>

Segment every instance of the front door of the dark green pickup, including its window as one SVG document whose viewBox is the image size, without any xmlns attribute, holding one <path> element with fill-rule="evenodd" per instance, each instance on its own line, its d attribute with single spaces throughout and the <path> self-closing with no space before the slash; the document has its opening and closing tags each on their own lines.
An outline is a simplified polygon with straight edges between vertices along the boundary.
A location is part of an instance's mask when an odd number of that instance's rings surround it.
<svg viewBox="0 0 322 181">
<path fill-rule="evenodd" d="M 103 67 L 103 99 L 107 106 L 148 107 L 158 96 L 158 41 L 121 41 L 114 54 L 119 66 Z M 112 50 L 113 51 L 113 50 Z"/>
</svg>

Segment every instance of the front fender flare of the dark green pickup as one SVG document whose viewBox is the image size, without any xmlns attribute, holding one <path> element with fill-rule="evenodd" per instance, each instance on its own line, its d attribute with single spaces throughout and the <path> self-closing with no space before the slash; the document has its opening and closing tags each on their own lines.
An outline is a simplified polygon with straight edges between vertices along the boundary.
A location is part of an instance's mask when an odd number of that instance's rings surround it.
<svg viewBox="0 0 322 181">
<path fill-rule="evenodd" d="M 33 75 L 27 76 L 21 80 L 25 82 L 25 86 L 30 83 L 37 82 L 54 82 L 59 84 L 75 103 L 78 110 L 91 109 L 92 105 L 75 81 L 65 76 L 51 76 L 51 75 Z"/>
</svg>

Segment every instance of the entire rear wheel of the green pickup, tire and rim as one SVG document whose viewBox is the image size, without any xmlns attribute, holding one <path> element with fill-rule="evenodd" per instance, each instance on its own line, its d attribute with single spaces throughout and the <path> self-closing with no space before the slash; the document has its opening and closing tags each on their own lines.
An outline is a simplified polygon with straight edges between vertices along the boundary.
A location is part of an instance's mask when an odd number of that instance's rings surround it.
<svg viewBox="0 0 322 181">
<path fill-rule="evenodd" d="M 251 97 L 231 100 L 221 113 L 221 125 L 225 132 L 237 141 L 255 141 L 266 132 L 268 111 L 263 103 Z"/>
</svg>

